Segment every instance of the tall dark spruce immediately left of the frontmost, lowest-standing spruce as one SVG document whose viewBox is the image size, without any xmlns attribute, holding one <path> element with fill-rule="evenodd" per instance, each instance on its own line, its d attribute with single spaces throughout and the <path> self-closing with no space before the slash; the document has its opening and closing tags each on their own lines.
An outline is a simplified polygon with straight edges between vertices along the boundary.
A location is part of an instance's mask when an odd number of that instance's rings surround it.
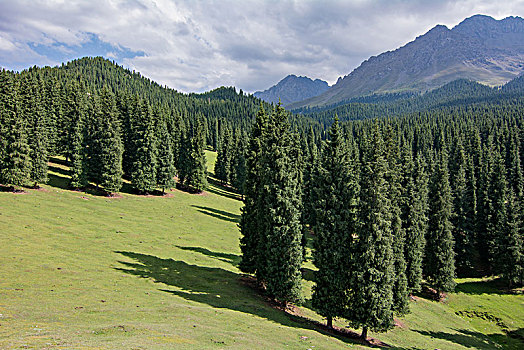
<svg viewBox="0 0 524 350">
<path fill-rule="evenodd" d="M 315 232 L 313 263 L 315 273 L 312 303 L 332 327 L 334 317 L 349 307 L 351 256 L 356 229 L 358 181 L 351 171 L 338 118 L 331 126 L 330 140 L 322 154 L 322 165 L 311 185 L 316 193 L 313 203 Z"/>
</svg>

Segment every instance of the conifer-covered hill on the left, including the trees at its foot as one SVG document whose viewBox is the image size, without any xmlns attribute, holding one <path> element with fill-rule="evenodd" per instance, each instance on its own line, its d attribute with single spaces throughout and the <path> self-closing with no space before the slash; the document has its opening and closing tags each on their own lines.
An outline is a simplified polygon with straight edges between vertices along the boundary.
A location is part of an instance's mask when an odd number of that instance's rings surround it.
<svg viewBox="0 0 524 350">
<path fill-rule="evenodd" d="M 0 183 L 10 186 L 45 183 L 50 156 L 64 156 L 71 188 L 114 193 L 125 178 L 151 193 L 177 176 L 201 191 L 204 148 L 246 134 L 261 103 L 234 88 L 180 94 L 100 57 L 0 74 Z"/>
</svg>

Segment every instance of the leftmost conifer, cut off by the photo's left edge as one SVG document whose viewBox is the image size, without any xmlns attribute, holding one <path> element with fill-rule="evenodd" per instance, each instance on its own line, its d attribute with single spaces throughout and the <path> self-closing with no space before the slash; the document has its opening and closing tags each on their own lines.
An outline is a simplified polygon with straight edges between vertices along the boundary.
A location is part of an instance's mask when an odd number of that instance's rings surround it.
<svg viewBox="0 0 524 350">
<path fill-rule="evenodd" d="M 27 125 L 18 108 L 18 86 L 10 73 L 0 71 L 0 183 L 23 186 L 29 180 Z"/>
</svg>

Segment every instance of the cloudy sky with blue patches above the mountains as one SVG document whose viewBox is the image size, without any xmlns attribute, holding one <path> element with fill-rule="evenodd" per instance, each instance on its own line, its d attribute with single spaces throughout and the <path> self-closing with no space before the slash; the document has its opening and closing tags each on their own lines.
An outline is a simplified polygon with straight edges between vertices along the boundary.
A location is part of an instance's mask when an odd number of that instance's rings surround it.
<svg viewBox="0 0 524 350">
<path fill-rule="evenodd" d="M 181 92 L 330 85 L 437 24 L 524 17 L 524 0 L 0 0 L 0 67 L 103 56 Z"/>
</svg>

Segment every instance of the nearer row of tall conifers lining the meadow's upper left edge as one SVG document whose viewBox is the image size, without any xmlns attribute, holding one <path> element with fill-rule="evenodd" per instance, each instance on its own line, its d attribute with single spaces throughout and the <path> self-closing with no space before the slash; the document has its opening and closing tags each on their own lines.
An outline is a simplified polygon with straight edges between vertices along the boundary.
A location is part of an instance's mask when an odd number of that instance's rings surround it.
<svg viewBox="0 0 524 350">
<path fill-rule="evenodd" d="M 38 69 L 0 72 L 0 89 L 0 183 L 45 183 L 49 155 L 63 155 L 75 189 L 91 182 L 118 192 L 123 176 L 139 193 L 170 188 L 175 175 L 197 191 L 206 186 L 203 118 L 182 120 L 125 91 L 60 85 Z M 62 96 L 55 100 L 57 89 Z"/>
</svg>

